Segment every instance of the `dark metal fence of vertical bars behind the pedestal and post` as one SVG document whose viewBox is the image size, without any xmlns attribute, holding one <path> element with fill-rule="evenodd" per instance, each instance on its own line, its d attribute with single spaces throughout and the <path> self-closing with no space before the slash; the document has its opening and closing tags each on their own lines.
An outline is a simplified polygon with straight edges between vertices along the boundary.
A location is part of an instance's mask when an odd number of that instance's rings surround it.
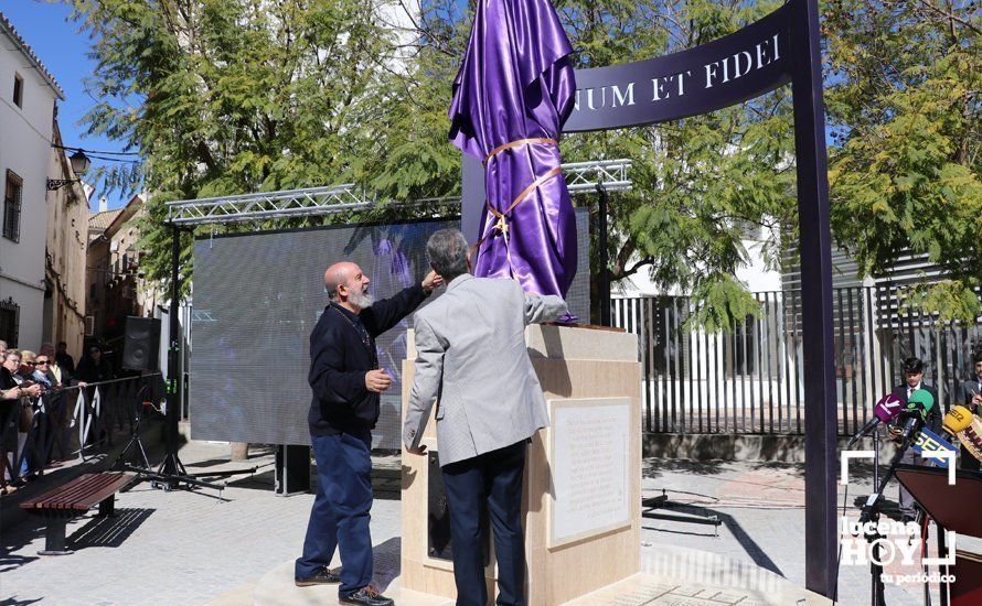
<svg viewBox="0 0 982 606">
<path fill-rule="evenodd" d="M 732 332 L 691 331 L 686 296 L 615 299 L 612 324 L 639 336 L 643 430 L 650 433 L 802 434 L 807 402 L 801 292 L 755 294 L 760 313 Z M 901 312 L 895 288 L 841 288 L 834 297 L 839 431 L 852 434 L 903 381 L 901 360 L 925 362 L 947 410 L 982 347 L 970 325 Z"/>
</svg>

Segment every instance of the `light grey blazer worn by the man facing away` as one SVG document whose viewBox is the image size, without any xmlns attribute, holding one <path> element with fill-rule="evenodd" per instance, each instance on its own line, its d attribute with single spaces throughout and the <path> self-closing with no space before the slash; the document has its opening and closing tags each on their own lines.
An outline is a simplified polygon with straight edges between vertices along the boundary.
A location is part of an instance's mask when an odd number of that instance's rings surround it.
<svg viewBox="0 0 982 606">
<path fill-rule="evenodd" d="M 403 442 L 419 445 L 437 405 L 440 465 L 525 440 L 548 425 L 525 326 L 559 318 L 558 296 L 526 294 L 514 280 L 459 275 L 416 312 L 416 378 Z"/>
</svg>

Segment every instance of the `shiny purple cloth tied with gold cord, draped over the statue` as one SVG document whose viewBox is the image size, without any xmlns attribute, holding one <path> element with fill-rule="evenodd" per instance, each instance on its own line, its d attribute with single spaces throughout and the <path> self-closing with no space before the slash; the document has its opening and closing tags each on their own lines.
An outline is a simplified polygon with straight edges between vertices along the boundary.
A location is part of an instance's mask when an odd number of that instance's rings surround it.
<svg viewBox="0 0 982 606">
<path fill-rule="evenodd" d="M 470 42 L 453 82 L 450 141 L 484 160 L 499 145 L 558 139 L 576 91 L 573 51 L 549 0 L 479 0 Z M 474 275 L 514 277 L 526 292 L 566 295 L 576 274 L 576 220 L 562 174 L 506 213 L 530 184 L 561 163 L 555 144 L 497 153 L 484 165 L 488 204 Z"/>
</svg>

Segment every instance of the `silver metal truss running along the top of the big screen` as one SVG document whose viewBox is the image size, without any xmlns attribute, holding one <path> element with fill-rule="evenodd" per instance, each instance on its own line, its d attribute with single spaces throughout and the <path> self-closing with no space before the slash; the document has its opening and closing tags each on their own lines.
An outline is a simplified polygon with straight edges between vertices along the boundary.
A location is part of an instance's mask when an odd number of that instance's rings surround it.
<svg viewBox="0 0 982 606">
<path fill-rule="evenodd" d="M 594 193 L 601 183 L 608 192 L 622 192 L 631 188 L 631 181 L 628 178 L 630 169 L 630 159 L 572 162 L 563 164 L 563 174 L 566 176 L 566 186 L 570 194 Z M 190 226 L 330 215 L 386 206 L 402 208 L 459 204 L 459 196 L 380 202 L 365 196 L 355 184 L 345 183 L 325 187 L 183 199 L 168 202 L 167 208 L 168 223 Z"/>
</svg>

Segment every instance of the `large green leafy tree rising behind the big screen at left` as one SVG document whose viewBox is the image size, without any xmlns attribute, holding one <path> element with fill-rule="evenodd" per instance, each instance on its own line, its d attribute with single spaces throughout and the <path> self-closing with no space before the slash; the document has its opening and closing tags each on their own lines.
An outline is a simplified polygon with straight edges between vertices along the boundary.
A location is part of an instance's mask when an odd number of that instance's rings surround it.
<svg viewBox="0 0 982 606">
<path fill-rule="evenodd" d="M 342 183 L 375 151 L 397 41 L 372 3 L 73 4 L 98 62 L 89 131 L 145 160 L 151 279 L 169 278 L 167 201 Z"/>
</svg>

